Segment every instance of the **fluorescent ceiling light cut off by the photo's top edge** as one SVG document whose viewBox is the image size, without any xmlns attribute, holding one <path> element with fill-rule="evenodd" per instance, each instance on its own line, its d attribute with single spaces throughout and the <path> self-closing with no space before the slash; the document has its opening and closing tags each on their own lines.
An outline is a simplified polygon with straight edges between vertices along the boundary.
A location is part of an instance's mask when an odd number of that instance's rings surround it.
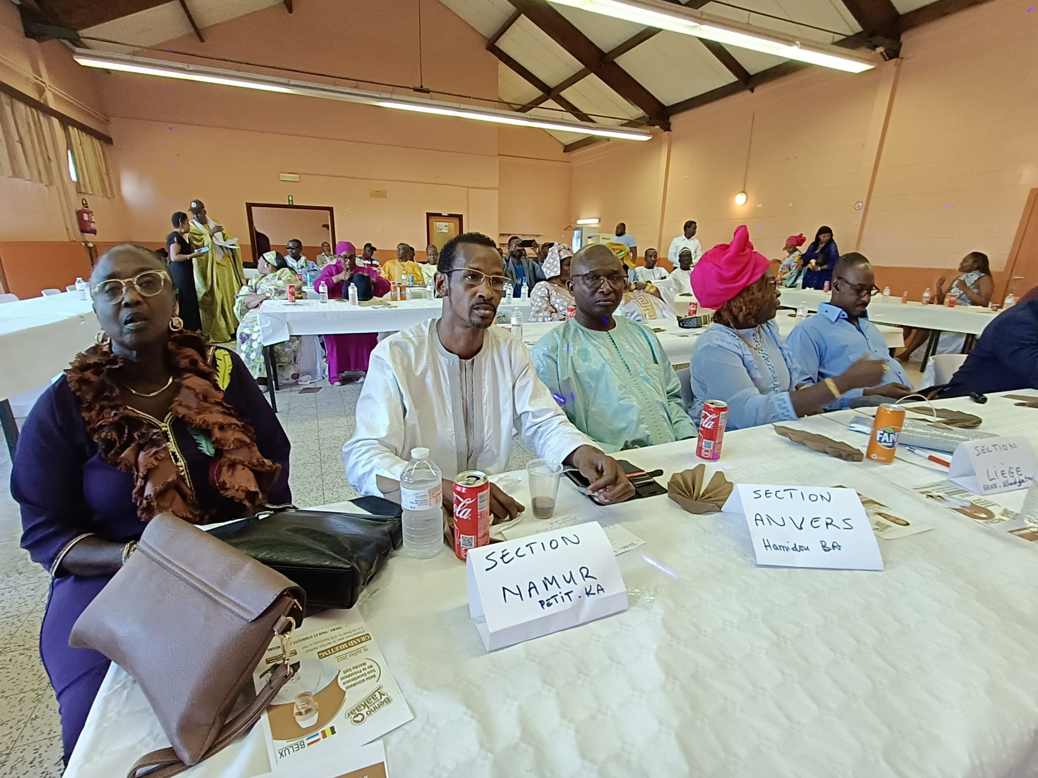
<svg viewBox="0 0 1038 778">
<path fill-rule="evenodd" d="M 623 19 L 647 27 L 658 27 L 685 35 L 715 40 L 726 46 L 752 49 L 783 59 L 795 59 L 847 73 L 862 73 L 875 67 L 865 56 L 838 46 L 799 40 L 764 27 L 735 22 L 712 13 L 688 8 L 666 0 L 549 0 L 556 5 Z"/>
</svg>

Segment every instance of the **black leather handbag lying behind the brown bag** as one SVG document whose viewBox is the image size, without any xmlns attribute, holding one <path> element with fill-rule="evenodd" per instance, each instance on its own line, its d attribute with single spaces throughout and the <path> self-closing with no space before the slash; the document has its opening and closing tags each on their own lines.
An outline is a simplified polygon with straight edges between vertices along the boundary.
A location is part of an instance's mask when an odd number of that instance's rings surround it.
<svg viewBox="0 0 1038 778">
<path fill-rule="evenodd" d="M 356 503 L 395 515 L 289 509 L 230 522 L 210 534 L 299 584 L 307 608 L 352 608 L 404 541 L 399 505 L 378 498 Z"/>
</svg>

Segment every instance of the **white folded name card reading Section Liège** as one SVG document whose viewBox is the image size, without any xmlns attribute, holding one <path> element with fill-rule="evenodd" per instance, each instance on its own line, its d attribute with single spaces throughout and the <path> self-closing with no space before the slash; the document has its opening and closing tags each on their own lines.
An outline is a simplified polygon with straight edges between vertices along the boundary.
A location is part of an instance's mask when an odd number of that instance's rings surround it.
<svg viewBox="0 0 1038 778">
<path fill-rule="evenodd" d="M 960 443 L 952 454 L 948 479 L 975 495 L 1027 489 L 1038 477 L 1031 445 L 1016 436 Z"/>
</svg>

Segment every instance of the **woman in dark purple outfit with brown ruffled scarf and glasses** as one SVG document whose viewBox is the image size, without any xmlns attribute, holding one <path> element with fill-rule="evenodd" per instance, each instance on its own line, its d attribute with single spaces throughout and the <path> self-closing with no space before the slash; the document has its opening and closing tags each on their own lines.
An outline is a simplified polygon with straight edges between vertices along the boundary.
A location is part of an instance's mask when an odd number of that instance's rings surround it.
<svg viewBox="0 0 1038 778">
<path fill-rule="evenodd" d="M 184 329 L 165 262 L 115 246 L 90 282 L 98 344 L 40 396 L 11 472 L 22 548 L 52 577 L 39 648 L 66 760 L 109 664 L 69 636 L 144 525 L 163 512 L 203 524 L 292 502 L 277 416 L 234 352 Z"/>
</svg>

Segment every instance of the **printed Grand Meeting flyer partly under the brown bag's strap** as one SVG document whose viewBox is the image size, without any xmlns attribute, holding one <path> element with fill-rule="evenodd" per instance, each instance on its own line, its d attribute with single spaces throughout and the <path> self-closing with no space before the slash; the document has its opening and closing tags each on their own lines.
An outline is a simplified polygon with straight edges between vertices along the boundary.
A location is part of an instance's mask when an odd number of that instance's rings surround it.
<svg viewBox="0 0 1038 778">
<path fill-rule="evenodd" d="M 274 640 L 256 668 L 258 691 L 277 666 Z M 292 635 L 295 674 L 261 720 L 271 767 L 371 743 L 414 716 L 356 608 L 307 616 Z"/>
</svg>

